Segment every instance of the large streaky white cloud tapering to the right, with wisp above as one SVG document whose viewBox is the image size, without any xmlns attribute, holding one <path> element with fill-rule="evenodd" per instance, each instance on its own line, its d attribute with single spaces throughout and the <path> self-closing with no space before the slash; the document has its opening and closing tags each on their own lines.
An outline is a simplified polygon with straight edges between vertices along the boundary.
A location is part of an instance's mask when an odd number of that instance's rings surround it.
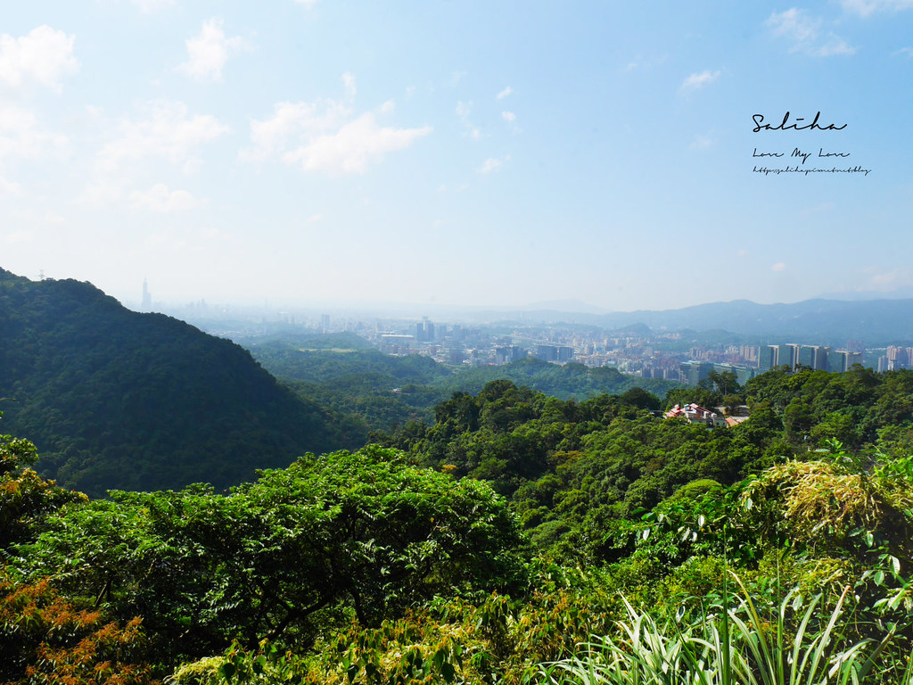
<svg viewBox="0 0 913 685">
<path fill-rule="evenodd" d="M 300 166 L 308 172 L 363 174 L 386 153 L 403 150 L 431 132 L 430 126 L 397 129 L 382 126 L 375 112 L 355 116 L 352 99 L 355 79 L 343 74 L 346 99 L 316 102 L 280 102 L 273 116 L 251 121 L 253 147 L 241 153 L 248 161 L 278 159 Z M 393 102 L 383 103 L 377 113 L 394 110 Z"/>
</svg>

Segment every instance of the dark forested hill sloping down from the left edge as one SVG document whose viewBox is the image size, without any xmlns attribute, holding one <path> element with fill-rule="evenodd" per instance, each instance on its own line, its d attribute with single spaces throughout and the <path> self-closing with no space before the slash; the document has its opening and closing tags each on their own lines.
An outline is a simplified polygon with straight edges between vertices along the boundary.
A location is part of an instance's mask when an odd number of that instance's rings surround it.
<svg viewBox="0 0 913 685">
<path fill-rule="evenodd" d="M 31 437 L 39 470 L 93 495 L 225 488 L 351 444 L 234 342 L 89 283 L 2 269 L 0 398 L 2 432 Z"/>
</svg>

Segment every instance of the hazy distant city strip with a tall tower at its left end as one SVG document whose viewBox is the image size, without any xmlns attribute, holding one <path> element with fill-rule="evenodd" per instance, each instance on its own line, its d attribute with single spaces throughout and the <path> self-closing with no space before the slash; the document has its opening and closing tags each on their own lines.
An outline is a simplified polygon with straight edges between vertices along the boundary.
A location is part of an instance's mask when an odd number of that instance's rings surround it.
<svg viewBox="0 0 913 685">
<path fill-rule="evenodd" d="M 348 332 L 383 353 L 426 356 L 451 367 L 510 364 L 532 356 L 552 364 L 610 366 L 623 374 L 689 386 L 700 385 L 711 372 L 735 374 L 741 385 L 781 366 L 838 373 L 854 364 L 879 372 L 913 366 L 913 347 L 868 348 L 860 340 L 782 342 L 776 332 L 761 338 L 725 331 L 657 331 L 644 324 L 610 330 L 583 323 L 466 323 L 426 316 L 388 319 L 240 307 L 216 311 L 202 301 L 180 309 L 156 308 L 145 288 L 140 309 L 163 311 L 236 342 L 278 332 Z"/>
</svg>

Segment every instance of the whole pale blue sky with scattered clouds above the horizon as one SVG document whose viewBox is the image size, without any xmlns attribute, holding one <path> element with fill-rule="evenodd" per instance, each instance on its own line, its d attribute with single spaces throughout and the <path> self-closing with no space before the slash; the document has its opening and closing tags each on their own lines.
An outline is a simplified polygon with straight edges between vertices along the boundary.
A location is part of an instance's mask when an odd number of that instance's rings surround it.
<svg viewBox="0 0 913 685">
<path fill-rule="evenodd" d="M 913 293 L 913 0 L 0 2 L 0 268 L 30 279 L 605 311 Z"/>
</svg>

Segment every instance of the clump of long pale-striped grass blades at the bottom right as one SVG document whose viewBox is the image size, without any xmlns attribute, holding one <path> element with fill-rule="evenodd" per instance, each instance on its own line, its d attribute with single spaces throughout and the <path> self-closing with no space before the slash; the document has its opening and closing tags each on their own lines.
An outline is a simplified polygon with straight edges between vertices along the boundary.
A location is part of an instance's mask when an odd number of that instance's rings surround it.
<svg viewBox="0 0 913 685">
<path fill-rule="evenodd" d="M 663 625 L 626 600 L 626 618 L 612 636 L 581 645 L 580 654 L 540 667 L 549 685 L 860 685 L 869 681 L 881 642 L 852 642 L 840 623 L 847 588 L 834 610 L 822 616 L 821 596 L 791 620 L 793 595 L 775 607 L 771 622 L 750 593 L 724 590 L 722 606 L 705 609 L 684 627 Z M 797 622 L 796 622 L 797 621 Z M 874 679 L 873 679 L 874 680 Z M 913 667 L 904 676 L 913 685 Z"/>
</svg>

